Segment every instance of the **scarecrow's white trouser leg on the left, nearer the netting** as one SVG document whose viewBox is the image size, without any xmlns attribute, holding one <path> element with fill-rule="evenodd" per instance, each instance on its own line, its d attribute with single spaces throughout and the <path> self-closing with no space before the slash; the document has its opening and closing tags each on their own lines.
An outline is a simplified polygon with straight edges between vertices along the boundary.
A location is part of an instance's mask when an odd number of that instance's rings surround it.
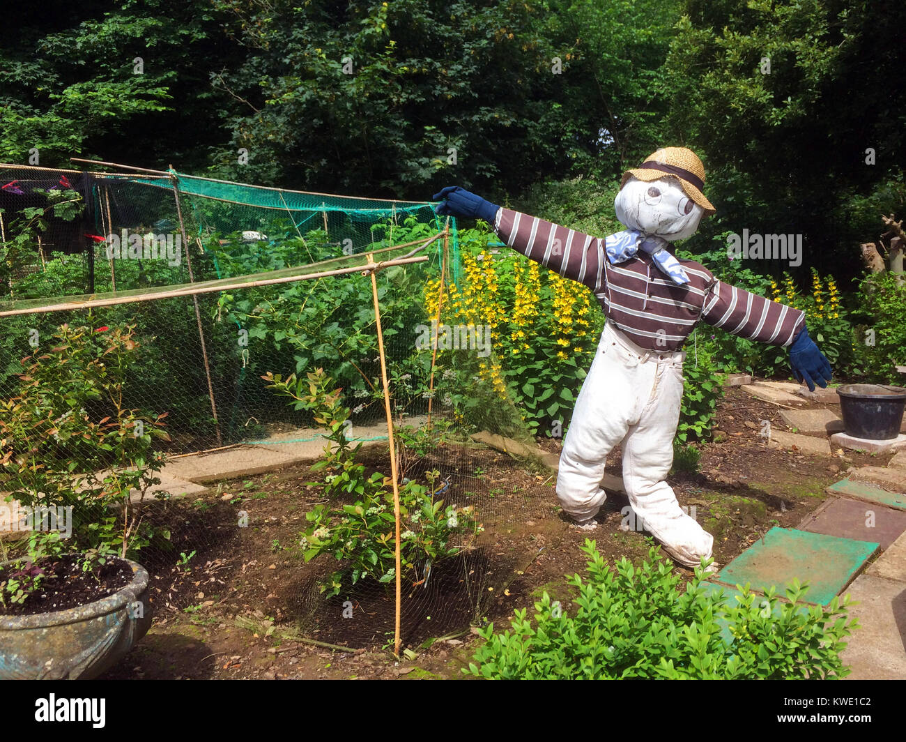
<svg viewBox="0 0 906 742">
<path fill-rule="evenodd" d="M 557 497 L 564 511 L 577 521 L 593 518 L 607 499 L 601 488 L 605 460 L 647 401 L 656 367 L 640 365 L 638 358 L 631 359 L 614 342 L 608 325 L 576 399 L 560 454 Z M 647 385 L 645 376 L 650 377 Z M 646 389 L 645 399 L 640 398 L 640 386 Z"/>
</svg>

